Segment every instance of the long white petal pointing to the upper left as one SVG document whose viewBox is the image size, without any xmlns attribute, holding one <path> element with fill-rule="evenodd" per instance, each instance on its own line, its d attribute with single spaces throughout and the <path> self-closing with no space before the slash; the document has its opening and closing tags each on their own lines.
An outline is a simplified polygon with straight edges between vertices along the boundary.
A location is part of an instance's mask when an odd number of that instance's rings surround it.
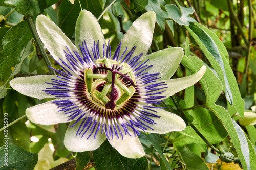
<svg viewBox="0 0 256 170">
<path fill-rule="evenodd" d="M 63 52 L 65 50 L 68 53 L 67 47 L 69 48 L 70 52 L 74 50 L 77 51 L 80 56 L 82 56 L 70 39 L 45 15 L 39 15 L 36 18 L 35 24 L 42 43 L 45 44 L 46 48 L 56 61 L 61 63 L 61 60 L 59 59 L 61 58 L 63 61 L 69 64 L 65 57 L 65 53 Z"/>
</svg>

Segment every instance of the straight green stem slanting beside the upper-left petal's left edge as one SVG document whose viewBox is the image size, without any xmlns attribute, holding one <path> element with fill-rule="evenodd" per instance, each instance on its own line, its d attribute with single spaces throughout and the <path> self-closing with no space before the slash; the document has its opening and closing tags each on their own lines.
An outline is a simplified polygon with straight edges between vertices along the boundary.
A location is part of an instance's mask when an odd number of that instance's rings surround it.
<svg viewBox="0 0 256 170">
<path fill-rule="evenodd" d="M 49 67 L 52 67 L 52 64 L 51 64 L 51 62 L 50 62 L 50 60 L 49 60 L 49 58 L 48 58 L 48 56 L 47 56 L 47 54 L 46 54 L 46 52 L 45 52 L 45 50 L 44 50 L 44 47 L 42 46 L 42 43 L 41 43 L 41 41 L 40 41 L 40 38 L 39 38 L 39 36 L 38 36 L 38 34 L 37 34 L 37 32 L 36 32 L 36 29 L 35 29 L 35 26 L 34 26 L 34 23 L 33 23 L 33 21 L 32 21 L 31 16 L 28 16 L 28 15 L 27 15 L 27 16 L 26 16 L 26 19 L 27 19 L 27 22 L 28 22 L 28 24 L 29 24 L 30 31 L 31 31 L 31 33 L 32 33 L 32 35 L 33 35 L 33 37 L 34 37 L 34 39 L 35 39 L 35 42 L 36 42 L 36 44 L 37 44 L 37 46 L 38 46 L 38 48 L 39 48 L 39 51 L 40 51 L 42 57 L 43 57 L 44 60 L 45 60 L 46 65 L 49 66 Z M 48 70 L 50 71 L 50 73 L 51 73 L 52 75 L 55 75 L 54 70 L 52 70 L 52 69 L 49 68 L 49 67 L 48 67 Z"/>
</svg>

